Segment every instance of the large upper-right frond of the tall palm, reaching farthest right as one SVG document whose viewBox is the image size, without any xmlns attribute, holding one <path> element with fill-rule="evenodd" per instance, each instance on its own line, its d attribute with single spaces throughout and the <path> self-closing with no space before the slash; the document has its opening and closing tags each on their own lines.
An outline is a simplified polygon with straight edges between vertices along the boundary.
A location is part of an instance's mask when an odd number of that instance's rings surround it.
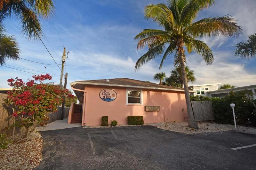
<svg viewBox="0 0 256 170">
<path fill-rule="evenodd" d="M 188 26 L 186 32 L 193 37 L 212 37 L 223 35 L 226 37 L 238 37 L 242 34 L 242 29 L 235 18 L 223 16 L 219 18 L 204 18 Z"/>
</svg>

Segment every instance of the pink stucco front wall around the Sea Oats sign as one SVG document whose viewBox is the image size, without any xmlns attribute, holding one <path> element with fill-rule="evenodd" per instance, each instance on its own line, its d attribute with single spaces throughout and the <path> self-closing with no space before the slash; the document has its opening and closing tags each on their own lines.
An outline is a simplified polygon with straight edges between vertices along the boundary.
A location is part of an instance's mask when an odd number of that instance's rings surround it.
<svg viewBox="0 0 256 170">
<path fill-rule="evenodd" d="M 116 100 L 106 102 L 100 99 L 99 93 L 103 89 L 115 90 Z M 118 124 L 127 124 L 127 116 L 143 116 L 144 123 L 164 122 L 164 118 L 178 122 L 187 121 L 184 93 L 142 90 L 143 105 L 126 105 L 126 88 L 86 86 L 82 125 L 100 125 L 102 116 L 108 116 L 109 124 L 113 119 L 117 120 Z M 160 111 L 144 111 L 145 105 L 160 106 Z"/>
</svg>

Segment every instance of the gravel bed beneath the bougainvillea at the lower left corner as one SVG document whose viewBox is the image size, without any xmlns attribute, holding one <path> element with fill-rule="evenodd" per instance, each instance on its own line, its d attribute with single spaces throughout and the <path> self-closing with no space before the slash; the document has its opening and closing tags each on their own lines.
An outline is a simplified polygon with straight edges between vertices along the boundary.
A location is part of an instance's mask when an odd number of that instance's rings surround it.
<svg viewBox="0 0 256 170">
<path fill-rule="evenodd" d="M 25 140 L 16 143 L 23 135 L 18 133 L 7 149 L 0 149 L 0 170 L 33 169 L 40 164 L 43 159 L 41 134 L 31 132 Z"/>
</svg>

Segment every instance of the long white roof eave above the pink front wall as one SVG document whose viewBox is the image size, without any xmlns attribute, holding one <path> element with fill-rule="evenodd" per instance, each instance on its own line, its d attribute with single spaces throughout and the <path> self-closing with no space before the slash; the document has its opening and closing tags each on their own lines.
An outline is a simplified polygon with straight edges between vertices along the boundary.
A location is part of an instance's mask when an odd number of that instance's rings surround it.
<svg viewBox="0 0 256 170">
<path fill-rule="evenodd" d="M 168 91 L 182 91 L 182 89 L 168 89 L 168 88 L 158 88 L 158 87 L 144 87 L 144 86 L 131 86 L 131 85 L 120 85 L 120 84 L 105 84 L 105 83 L 91 83 L 91 82 L 81 82 L 74 81 L 70 83 L 71 86 L 75 84 L 88 84 L 88 85 L 98 85 L 98 86 L 115 86 L 115 87 L 128 87 L 128 88 L 139 88 L 139 89 L 155 89 L 155 90 L 168 90 Z M 189 92 L 196 92 L 194 90 L 189 90 Z"/>
</svg>

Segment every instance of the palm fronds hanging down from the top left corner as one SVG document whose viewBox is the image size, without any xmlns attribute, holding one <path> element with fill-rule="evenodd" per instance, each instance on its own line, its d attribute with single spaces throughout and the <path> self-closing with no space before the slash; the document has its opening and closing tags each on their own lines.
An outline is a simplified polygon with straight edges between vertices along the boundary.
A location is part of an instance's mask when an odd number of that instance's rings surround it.
<svg viewBox="0 0 256 170">
<path fill-rule="evenodd" d="M 53 9 L 52 0 L 4 0 L 0 4 L 0 18 L 18 18 L 26 38 L 36 40 L 43 35 L 39 18 L 48 18 Z"/>
</svg>

